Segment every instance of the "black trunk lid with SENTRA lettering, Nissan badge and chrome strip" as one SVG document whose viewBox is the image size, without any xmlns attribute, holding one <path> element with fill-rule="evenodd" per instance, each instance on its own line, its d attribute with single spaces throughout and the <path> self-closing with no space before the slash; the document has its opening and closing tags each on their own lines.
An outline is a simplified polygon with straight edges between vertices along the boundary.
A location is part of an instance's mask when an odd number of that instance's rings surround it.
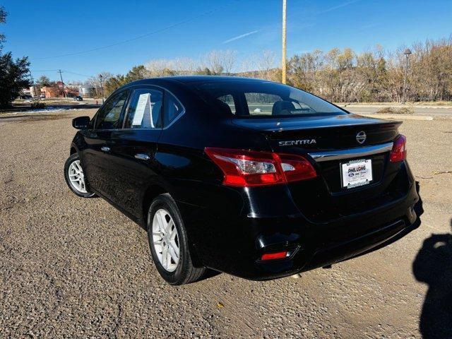
<svg viewBox="0 0 452 339">
<path fill-rule="evenodd" d="M 319 177 L 294 182 L 289 188 L 299 210 L 314 222 L 379 206 L 387 199 L 396 198 L 400 189 L 395 182 L 400 164 L 389 162 L 400 121 L 328 114 L 233 119 L 233 124 L 263 133 L 274 152 L 304 155 L 311 161 Z M 362 159 L 371 160 L 371 182 L 351 189 L 343 187 L 342 164 Z"/>
</svg>

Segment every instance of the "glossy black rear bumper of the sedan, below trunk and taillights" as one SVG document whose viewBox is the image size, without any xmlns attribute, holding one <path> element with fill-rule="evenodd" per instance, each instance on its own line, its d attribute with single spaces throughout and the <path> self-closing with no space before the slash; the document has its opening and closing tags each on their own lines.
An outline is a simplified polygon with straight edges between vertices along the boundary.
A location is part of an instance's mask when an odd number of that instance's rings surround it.
<svg viewBox="0 0 452 339">
<path fill-rule="evenodd" d="M 232 209 L 220 215 L 219 209 L 203 208 L 194 213 L 202 217 L 184 216 L 184 220 L 204 266 L 251 280 L 282 278 L 371 251 L 414 229 L 419 196 L 408 166 L 407 171 L 408 189 L 403 196 L 331 222 L 313 222 L 302 213 L 256 215 L 256 204 L 245 206 L 239 217 L 234 217 Z M 283 193 L 268 196 L 271 199 L 265 201 L 271 201 L 273 208 L 285 206 Z M 222 203 L 222 209 L 227 206 Z M 260 260 L 262 254 L 275 251 L 290 251 L 291 255 Z"/>
</svg>

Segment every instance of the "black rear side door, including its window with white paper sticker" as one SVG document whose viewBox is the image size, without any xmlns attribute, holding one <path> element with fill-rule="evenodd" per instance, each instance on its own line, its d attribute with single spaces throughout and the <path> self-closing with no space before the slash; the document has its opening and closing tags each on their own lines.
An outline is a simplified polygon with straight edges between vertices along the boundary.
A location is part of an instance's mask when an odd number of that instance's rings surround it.
<svg viewBox="0 0 452 339">
<path fill-rule="evenodd" d="M 157 177 L 155 153 L 162 132 L 163 91 L 150 85 L 133 88 L 124 126 L 112 131 L 108 147 L 114 177 L 112 200 L 139 218 L 143 191 Z"/>
</svg>

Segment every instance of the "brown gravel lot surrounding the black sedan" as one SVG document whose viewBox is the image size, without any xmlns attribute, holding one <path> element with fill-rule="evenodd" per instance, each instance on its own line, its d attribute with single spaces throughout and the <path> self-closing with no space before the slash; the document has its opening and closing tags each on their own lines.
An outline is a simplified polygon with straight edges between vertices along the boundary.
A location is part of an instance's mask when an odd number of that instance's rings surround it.
<svg viewBox="0 0 452 339">
<path fill-rule="evenodd" d="M 400 241 L 299 279 L 170 287 L 141 227 L 66 187 L 71 119 L 94 112 L 0 116 L 0 338 L 452 336 L 452 243 L 420 251 L 451 233 L 452 119 L 401 127 L 425 213 Z"/>
</svg>

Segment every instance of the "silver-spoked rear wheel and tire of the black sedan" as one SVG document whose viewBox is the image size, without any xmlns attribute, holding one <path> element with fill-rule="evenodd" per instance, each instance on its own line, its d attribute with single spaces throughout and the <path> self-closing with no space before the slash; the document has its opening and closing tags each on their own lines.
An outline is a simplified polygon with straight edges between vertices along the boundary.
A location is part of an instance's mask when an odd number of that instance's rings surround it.
<svg viewBox="0 0 452 339">
<path fill-rule="evenodd" d="M 206 268 L 194 267 L 182 216 L 169 194 L 150 204 L 147 226 L 150 254 L 167 283 L 184 285 L 201 278 Z"/>
</svg>

